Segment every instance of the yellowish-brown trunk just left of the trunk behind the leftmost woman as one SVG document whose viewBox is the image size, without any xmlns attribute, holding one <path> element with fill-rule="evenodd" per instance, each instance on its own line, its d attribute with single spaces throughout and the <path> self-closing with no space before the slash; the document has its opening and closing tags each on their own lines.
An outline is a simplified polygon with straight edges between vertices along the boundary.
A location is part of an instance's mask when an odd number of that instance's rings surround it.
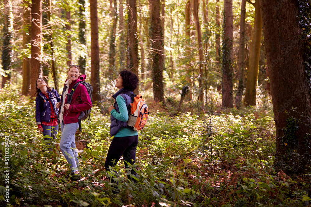
<svg viewBox="0 0 311 207">
<path fill-rule="evenodd" d="M 27 5 L 24 7 L 23 11 L 23 48 L 28 49 L 27 44 L 30 43 L 30 5 L 29 2 L 26 0 L 23 1 L 24 5 Z M 22 94 L 28 95 L 29 94 L 29 88 L 30 88 L 30 60 L 28 58 L 28 55 L 23 57 L 23 87 L 22 87 Z"/>
</svg>

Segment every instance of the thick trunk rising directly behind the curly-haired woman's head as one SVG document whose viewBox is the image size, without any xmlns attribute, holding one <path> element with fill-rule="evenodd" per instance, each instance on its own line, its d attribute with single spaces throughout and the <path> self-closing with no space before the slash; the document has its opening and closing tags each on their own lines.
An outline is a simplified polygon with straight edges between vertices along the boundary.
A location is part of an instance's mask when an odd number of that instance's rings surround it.
<svg viewBox="0 0 311 207">
<path fill-rule="evenodd" d="M 138 76 L 138 39 L 137 39 L 137 7 L 136 0 L 127 0 L 128 7 L 128 51 L 129 51 L 129 65 L 128 70 L 132 70 Z M 134 90 L 138 94 L 138 86 Z"/>
</svg>

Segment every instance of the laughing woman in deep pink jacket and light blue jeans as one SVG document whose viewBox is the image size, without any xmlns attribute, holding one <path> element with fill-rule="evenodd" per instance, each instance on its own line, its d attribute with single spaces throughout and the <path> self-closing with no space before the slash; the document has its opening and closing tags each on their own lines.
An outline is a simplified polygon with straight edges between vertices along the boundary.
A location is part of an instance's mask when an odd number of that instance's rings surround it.
<svg viewBox="0 0 311 207">
<path fill-rule="evenodd" d="M 82 111 L 92 107 L 91 98 L 84 85 L 79 84 L 72 94 L 70 103 L 67 103 L 67 95 L 72 90 L 75 83 L 82 82 L 86 75 L 80 75 L 79 65 L 70 65 L 68 69 L 68 79 L 65 81 L 61 101 L 56 107 L 59 110 L 59 123 L 62 130 L 62 137 L 59 148 L 63 152 L 67 162 L 71 164 L 70 179 L 80 180 L 78 153 L 75 151 L 75 133 L 79 127 L 78 117 Z"/>
</svg>

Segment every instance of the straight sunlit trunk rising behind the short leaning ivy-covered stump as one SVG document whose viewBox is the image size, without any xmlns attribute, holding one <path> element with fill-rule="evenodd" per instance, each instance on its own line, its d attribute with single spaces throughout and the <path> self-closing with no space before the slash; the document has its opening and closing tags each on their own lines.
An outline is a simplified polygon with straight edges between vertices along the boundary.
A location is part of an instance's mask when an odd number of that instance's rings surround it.
<svg viewBox="0 0 311 207">
<path fill-rule="evenodd" d="M 190 16 L 191 16 L 191 0 L 188 0 L 186 2 L 185 6 L 185 39 L 186 39 L 186 48 L 185 48 L 185 56 L 186 56 L 186 80 L 187 83 L 189 84 L 189 92 L 188 92 L 188 97 L 190 100 L 193 99 L 193 93 L 192 93 L 192 70 L 191 70 L 191 49 L 190 49 L 190 44 L 191 44 L 191 39 L 190 39 Z"/>
</svg>

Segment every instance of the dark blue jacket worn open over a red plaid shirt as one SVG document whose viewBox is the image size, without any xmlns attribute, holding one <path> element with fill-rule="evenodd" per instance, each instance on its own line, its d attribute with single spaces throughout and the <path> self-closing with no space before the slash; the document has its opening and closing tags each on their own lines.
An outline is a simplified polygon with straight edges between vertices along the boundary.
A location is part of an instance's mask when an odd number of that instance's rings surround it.
<svg viewBox="0 0 311 207">
<path fill-rule="evenodd" d="M 56 108 L 56 103 L 60 101 L 59 94 L 53 88 L 51 91 L 47 91 L 46 93 L 49 94 L 49 99 L 57 115 L 58 109 Z M 45 97 L 42 92 L 39 92 L 39 95 L 36 97 L 36 124 L 41 124 L 42 121 L 51 121 L 51 106 L 48 98 Z"/>
</svg>

